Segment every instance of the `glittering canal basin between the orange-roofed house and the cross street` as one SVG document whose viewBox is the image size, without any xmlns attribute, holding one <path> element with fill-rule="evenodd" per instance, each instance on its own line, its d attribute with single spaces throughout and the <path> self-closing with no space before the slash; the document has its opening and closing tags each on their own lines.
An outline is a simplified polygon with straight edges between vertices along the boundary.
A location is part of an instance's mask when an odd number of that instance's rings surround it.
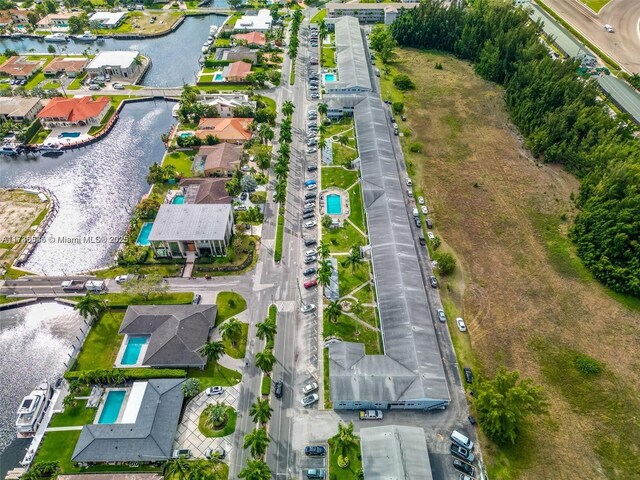
<svg viewBox="0 0 640 480">
<path fill-rule="evenodd" d="M 148 168 L 164 155 L 160 135 L 174 122 L 173 105 L 164 100 L 130 103 L 102 140 L 58 158 L 0 156 L 0 187 L 46 187 L 60 206 L 46 241 L 24 268 L 69 275 L 110 263 L 149 189 Z"/>
</svg>

